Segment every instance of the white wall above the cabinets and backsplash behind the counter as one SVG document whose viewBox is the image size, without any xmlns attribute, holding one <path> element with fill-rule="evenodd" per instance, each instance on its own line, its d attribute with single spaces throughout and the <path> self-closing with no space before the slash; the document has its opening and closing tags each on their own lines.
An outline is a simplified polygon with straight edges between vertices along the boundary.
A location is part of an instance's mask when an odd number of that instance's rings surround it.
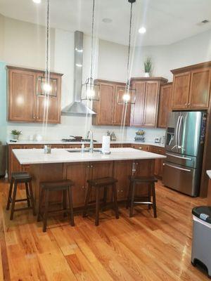
<svg viewBox="0 0 211 281">
<path fill-rule="evenodd" d="M 132 77 L 143 75 L 143 60 L 147 56 L 153 59 L 153 75 L 172 80 L 171 69 L 201 63 L 210 60 L 211 32 L 204 32 L 170 46 L 136 47 Z M 73 90 L 73 44 L 74 34 L 64 30 L 51 30 L 51 70 L 62 72 L 62 107 L 72 101 Z M 84 72 L 83 80 L 89 75 L 91 40 L 84 36 Z M 108 41 L 95 40 L 95 77 L 113 81 L 126 81 L 127 46 Z M 0 60 L 6 64 L 25 67 L 45 67 L 45 28 L 27 22 L 4 18 L 0 15 Z M 6 106 L 6 105 L 5 105 Z M 121 136 L 120 127 L 91 126 L 91 118 L 62 116 L 61 124 L 49 125 L 46 132 L 41 124 L 7 124 L 7 133 L 11 129 L 23 131 L 22 138 L 30 134 L 44 133 L 46 139 L 60 139 L 70 134 L 84 135 L 88 129 L 94 130 L 94 136 L 101 139 L 106 130 L 115 131 Z M 136 128 L 125 129 L 124 138 L 134 138 Z M 146 139 L 162 136 L 164 130 L 147 129 Z"/>
</svg>

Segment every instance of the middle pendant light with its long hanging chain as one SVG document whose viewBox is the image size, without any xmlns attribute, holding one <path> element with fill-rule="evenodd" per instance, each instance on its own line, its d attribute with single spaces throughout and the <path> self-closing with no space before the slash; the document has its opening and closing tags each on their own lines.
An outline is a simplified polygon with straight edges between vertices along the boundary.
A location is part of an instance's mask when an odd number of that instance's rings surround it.
<svg viewBox="0 0 211 281">
<path fill-rule="evenodd" d="M 94 11 L 95 0 L 92 5 L 92 23 L 91 23 L 91 66 L 90 76 L 82 85 L 82 100 L 99 100 L 100 85 L 93 79 L 93 53 L 94 53 Z"/>
</svg>

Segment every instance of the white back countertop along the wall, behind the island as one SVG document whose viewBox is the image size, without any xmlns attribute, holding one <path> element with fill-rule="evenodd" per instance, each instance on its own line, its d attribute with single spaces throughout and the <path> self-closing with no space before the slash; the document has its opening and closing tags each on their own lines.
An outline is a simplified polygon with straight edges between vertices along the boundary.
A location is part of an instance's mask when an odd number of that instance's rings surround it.
<svg viewBox="0 0 211 281">
<path fill-rule="evenodd" d="M 85 144 L 87 144 L 87 142 L 84 142 Z M 101 144 L 101 141 L 96 141 L 94 143 L 98 143 Z M 134 145 L 155 145 L 158 146 L 160 148 L 164 148 L 165 145 L 162 143 L 153 143 L 153 142 L 139 142 L 139 141 L 133 141 L 133 140 L 123 140 L 123 141 L 111 141 L 111 144 L 127 144 L 127 143 L 131 143 Z M 8 145 L 81 145 L 82 142 L 79 141 L 70 141 L 70 142 L 64 142 L 64 141 L 24 141 L 24 140 L 20 140 L 17 142 L 13 142 L 13 141 L 7 141 Z"/>
</svg>

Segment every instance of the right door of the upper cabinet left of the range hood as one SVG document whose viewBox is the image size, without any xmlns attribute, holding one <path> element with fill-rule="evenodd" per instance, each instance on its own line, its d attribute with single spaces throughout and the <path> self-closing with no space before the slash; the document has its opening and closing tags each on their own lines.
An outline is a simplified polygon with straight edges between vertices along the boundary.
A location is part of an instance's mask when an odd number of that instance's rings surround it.
<svg viewBox="0 0 211 281">
<path fill-rule="evenodd" d="M 37 74 L 37 122 L 60 123 L 60 78 L 51 74 L 51 92 L 44 95 L 44 73 Z"/>
</svg>

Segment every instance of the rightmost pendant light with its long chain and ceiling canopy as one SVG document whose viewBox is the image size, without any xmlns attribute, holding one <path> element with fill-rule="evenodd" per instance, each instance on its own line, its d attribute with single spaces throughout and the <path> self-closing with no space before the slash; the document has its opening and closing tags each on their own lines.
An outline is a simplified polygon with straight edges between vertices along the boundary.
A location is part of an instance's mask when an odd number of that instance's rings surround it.
<svg viewBox="0 0 211 281">
<path fill-rule="evenodd" d="M 131 37 L 132 37 L 132 8 L 136 0 L 128 0 L 131 4 L 130 6 L 130 18 L 129 18 L 129 44 L 128 44 L 128 55 L 127 55 L 127 82 L 125 86 L 125 91 L 123 94 L 117 93 L 117 103 L 120 105 L 124 104 L 134 104 L 136 100 L 136 90 L 130 88 L 130 74 L 129 74 L 129 59 L 130 59 L 130 49 L 131 49 Z"/>
</svg>

